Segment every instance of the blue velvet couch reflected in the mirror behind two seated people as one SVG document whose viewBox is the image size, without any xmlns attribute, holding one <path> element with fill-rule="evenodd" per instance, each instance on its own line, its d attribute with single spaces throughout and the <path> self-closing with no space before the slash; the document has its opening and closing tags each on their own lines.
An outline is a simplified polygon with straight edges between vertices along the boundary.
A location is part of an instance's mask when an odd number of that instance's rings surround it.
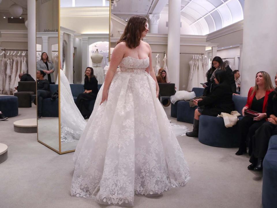
<svg viewBox="0 0 277 208">
<path fill-rule="evenodd" d="M 98 90 L 101 88 L 102 84 L 98 85 Z M 78 94 L 84 92 L 84 85 L 82 84 L 70 84 L 71 92 L 74 101 L 78 97 Z M 58 85 L 50 84 L 51 94 L 58 90 Z M 95 100 L 90 101 L 89 109 L 92 111 L 94 107 Z M 42 116 L 43 117 L 59 117 L 59 100 L 51 101 L 50 98 L 43 99 L 42 101 Z"/>
</svg>

